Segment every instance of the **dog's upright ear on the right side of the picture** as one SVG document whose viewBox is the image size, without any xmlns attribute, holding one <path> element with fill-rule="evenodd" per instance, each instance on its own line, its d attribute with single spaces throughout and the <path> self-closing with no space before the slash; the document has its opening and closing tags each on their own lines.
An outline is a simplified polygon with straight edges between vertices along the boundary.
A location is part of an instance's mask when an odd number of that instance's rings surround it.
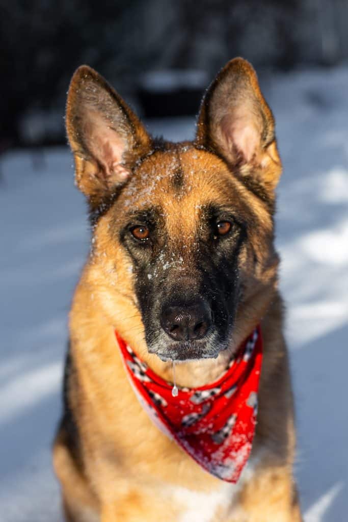
<svg viewBox="0 0 348 522">
<path fill-rule="evenodd" d="M 254 169 L 267 188 L 277 185 L 281 162 L 274 118 L 254 68 L 243 58 L 227 63 L 209 87 L 198 117 L 196 144 L 215 150 L 242 174 Z"/>
</svg>

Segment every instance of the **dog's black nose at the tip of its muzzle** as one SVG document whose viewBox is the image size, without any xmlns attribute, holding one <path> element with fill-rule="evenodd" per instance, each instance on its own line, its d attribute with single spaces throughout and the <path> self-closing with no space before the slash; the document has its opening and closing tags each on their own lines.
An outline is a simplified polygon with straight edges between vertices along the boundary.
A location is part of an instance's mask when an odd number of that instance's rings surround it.
<svg viewBox="0 0 348 522">
<path fill-rule="evenodd" d="M 201 339 L 211 325 L 209 306 L 202 300 L 189 305 L 166 306 L 162 310 L 161 325 L 175 341 Z"/>
</svg>

